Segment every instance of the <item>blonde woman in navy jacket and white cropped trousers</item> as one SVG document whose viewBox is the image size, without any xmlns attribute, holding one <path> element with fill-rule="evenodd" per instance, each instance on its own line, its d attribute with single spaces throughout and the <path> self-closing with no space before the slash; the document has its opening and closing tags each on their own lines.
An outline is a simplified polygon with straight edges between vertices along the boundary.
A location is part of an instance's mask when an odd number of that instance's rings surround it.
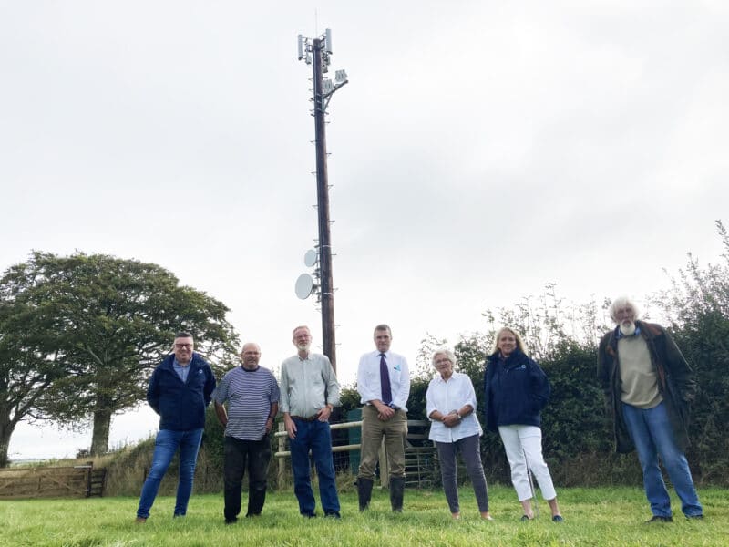
<svg viewBox="0 0 729 547">
<path fill-rule="evenodd" d="M 557 492 L 541 453 L 541 409 L 549 400 L 549 380 L 539 365 L 524 353 L 524 342 L 508 327 L 498 331 L 494 353 L 486 360 L 486 426 L 504 442 L 511 482 L 524 510 L 522 521 L 534 518 L 530 503 L 529 470 L 549 503 L 552 521 L 561 522 Z"/>
</svg>

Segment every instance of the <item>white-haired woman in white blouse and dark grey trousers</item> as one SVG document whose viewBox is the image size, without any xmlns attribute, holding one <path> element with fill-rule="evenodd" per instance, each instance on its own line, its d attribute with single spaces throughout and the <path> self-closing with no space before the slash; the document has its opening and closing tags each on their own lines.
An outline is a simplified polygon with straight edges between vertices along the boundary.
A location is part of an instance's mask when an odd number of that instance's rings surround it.
<svg viewBox="0 0 729 547">
<path fill-rule="evenodd" d="M 456 455 L 460 452 L 476 494 L 481 518 L 491 521 L 493 519 L 488 513 L 488 489 L 478 441 L 483 430 L 476 418 L 476 392 L 473 383 L 467 375 L 453 370 L 456 356 L 450 350 L 436 350 L 432 362 L 439 374 L 430 380 L 426 392 L 427 417 L 433 422 L 428 439 L 436 443 L 443 490 L 451 516 L 456 520 L 461 516 L 456 480 Z"/>
</svg>

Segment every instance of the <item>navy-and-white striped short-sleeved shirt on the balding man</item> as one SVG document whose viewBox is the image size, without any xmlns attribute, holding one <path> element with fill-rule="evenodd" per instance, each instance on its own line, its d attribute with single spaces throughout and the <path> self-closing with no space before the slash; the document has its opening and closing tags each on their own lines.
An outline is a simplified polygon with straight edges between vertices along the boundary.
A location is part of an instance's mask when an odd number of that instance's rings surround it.
<svg viewBox="0 0 729 547">
<path fill-rule="evenodd" d="M 271 406 L 278 403 L 280 391 L 276 378 L 268 368 L 246 370 L 236 366 L 222 378 L 215 390 L 215 401 L 228 402 L 226 437 L 261 440 L 266 433 L 266 420 Z"/>
</svg>

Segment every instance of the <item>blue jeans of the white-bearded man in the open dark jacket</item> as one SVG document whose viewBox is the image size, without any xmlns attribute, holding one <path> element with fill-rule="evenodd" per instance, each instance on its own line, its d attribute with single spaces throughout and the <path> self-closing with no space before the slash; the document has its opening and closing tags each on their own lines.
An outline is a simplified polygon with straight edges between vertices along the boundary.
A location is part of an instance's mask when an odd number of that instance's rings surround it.
<svg viewBox="0 0 729 547">
<path fill-rule="evenodd" d="M 673 428 L 665 404 L 654 408 L 635 408 L 622 403 L 622 417 L 638 451 L 643 470 L 643 487 L 651 503 L 651 511 L 659 517 L 671 516 L 671 499 L 668 496 L 658 457 L 673 482 L 681 500 L 681 511 L 687 517 L 703 514 L 703 508 L 693 487 L 689 463 L 673 439 Z"/>
</svg>

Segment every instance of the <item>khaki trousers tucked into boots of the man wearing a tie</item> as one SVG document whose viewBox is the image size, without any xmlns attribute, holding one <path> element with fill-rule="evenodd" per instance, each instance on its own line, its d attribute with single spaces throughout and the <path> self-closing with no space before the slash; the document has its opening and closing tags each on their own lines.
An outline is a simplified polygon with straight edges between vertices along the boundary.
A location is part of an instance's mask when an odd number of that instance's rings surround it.
<svg viewBox="0 0 729 547">
<path fill-rule="evenodd" d="M 377 418 L 377 409 L 372 405 L 362 408 L 362 456 L 358 479 L 375 480 L 375 466 L 379 460 L 380 444 L 385 437 L 387 463 L 390 477 L 405 477 L 405 443 L 407 436 L 407 413 L 395 410 L 387 421 Z"/>
</svg>

